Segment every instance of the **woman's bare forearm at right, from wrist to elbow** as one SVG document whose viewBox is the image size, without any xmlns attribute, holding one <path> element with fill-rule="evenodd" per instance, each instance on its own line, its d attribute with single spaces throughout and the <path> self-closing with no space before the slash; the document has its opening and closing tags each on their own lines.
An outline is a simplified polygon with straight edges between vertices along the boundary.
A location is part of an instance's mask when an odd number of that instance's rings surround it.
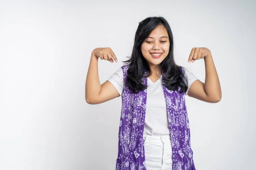
<svg viewBox="0 0 256 170">
<path fill-rule="evenodd" d="M 218 74 L 212 59 L 212 54 L 204 57 L 205 63 L 205 83 L 204 91 L 207 96 L 213 100 L 219 101 L 221 99 L 221 85 L 218 78 Z"/>
</svg>

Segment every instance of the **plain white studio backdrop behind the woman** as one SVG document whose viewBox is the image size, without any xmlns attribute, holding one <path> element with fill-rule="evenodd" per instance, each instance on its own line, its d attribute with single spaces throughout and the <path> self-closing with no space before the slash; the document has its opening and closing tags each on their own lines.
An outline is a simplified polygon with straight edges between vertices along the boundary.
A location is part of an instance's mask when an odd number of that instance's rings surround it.
<svg viewBox="0 0 256 170">
<path fill-rule="evenodd" d="M 122 98 L 89 105 L 91 52 L 101 84 L 131 55 L 138 22 L 168 20 L 178 65 L 205 81 L 207 47 L 221 82 L 212 104 L 186 96 L 197 170 L 255 170 L 256 2 L 0 1 L 0 170 L 114 170 Z"/>
</svg>

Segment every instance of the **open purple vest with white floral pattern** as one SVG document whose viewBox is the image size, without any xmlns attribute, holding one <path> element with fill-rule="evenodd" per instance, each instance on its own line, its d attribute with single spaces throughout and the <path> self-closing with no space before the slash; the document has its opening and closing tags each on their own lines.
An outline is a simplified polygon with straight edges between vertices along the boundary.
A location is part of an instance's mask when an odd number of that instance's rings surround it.
<svg viewBox="0 0 256 170">
<path fill-rule="evenodd" d="M 124 90 L 116 170 L 146 170 L 143 131 L 147 89 L 140 91 L 138 94 L 134 94 L 128 89 L 125 83 L 128 67 L 129 65 L 122 66 Z M 145 67 L 144 72 L 146 75 Z M 142 78 L 142 80 L 144 85 L 147 85 L 147 78 Z M 190 130 L 185 96 L 184 93 L 180 94 L 178 90 L 170 91 L 163 85 L 172 144 L 172 170 L 195 170 L 193 151 L 190 147 Z"/>
</svg>

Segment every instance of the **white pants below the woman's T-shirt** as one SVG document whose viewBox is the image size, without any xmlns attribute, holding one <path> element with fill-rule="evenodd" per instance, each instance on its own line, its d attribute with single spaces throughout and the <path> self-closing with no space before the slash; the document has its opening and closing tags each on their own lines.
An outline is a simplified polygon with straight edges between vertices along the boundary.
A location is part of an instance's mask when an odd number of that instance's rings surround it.
<svg viewBox="0 0 256 170">
<path fill-rule="evenodd" d="M 143 134 L 147 170 L 172 170 L 172 146 L 170 135 Z"/>
</svg>

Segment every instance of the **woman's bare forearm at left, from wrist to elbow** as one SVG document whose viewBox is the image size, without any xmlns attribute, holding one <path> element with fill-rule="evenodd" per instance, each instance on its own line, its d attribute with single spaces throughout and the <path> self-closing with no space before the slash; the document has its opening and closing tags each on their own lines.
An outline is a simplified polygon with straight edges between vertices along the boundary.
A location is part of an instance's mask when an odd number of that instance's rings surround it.
<svg viewBox="0 0 256 170">
<path fill-rule="evenodd" d="M 92 52 L 85 82 L 85 99 L 87 102 L 93 97 L 98 96 L 101 91 L 98 72 L 98 59 L 99 58 L 96 57 Z"/>
</svg>

